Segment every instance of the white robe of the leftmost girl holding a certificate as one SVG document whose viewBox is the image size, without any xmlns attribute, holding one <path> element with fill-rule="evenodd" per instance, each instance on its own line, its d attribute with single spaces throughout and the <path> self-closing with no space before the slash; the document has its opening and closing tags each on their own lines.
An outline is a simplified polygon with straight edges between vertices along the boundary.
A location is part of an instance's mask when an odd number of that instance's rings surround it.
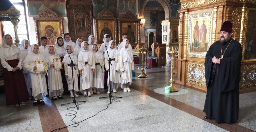
<svg viewBox="0 0 256 132">
<path fill-rule="evenodd" d="M 44 59 L 42 54 L 31 55 L 28 54 L 24 60 L 24 68 L 30 72 L 31 76 L 31 84 L 32 84 L 32 95 L 34 97 L 38 96 L 41 93 L 47 94 L 46 88 L 46 79 L 45 74 L 43 73 L 36 73 L 34 69 L 35 60 L 43 60 L 45 70 L 47 71 L 48 65 Z"/>
</svg>

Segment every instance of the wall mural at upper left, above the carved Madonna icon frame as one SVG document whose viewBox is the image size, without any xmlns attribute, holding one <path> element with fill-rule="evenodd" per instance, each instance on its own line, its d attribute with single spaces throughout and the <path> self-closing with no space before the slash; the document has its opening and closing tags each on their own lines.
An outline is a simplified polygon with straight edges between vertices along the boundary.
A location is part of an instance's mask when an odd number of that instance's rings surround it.
<svg viewBox="0 0 256 132">
<path fill-rule="evenodd" d="M 28 0 L 29 16 L 38 16 L 46 8 L 52 9 L 58 16 L 66 16 L 65 0 Z"/>
</svg>

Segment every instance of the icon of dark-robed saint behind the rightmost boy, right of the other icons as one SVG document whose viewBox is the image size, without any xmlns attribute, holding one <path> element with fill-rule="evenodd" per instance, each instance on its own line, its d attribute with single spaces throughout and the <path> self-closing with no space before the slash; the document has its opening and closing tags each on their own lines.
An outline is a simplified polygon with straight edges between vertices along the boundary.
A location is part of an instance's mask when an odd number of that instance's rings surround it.
<svg viewBox="0 0 256 132">
<path fill-rule="evenodd" d="M 126 33 L 130 43 L 137 43 L 136 23 L 122 23 L 122 34 Z"/>
</svg>

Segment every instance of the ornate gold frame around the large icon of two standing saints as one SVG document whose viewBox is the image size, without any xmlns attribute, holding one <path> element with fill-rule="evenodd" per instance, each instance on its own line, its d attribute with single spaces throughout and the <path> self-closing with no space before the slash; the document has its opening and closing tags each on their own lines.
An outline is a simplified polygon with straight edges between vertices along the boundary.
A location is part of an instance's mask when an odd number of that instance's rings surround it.
<svg viewBox="0 0 256 132">
<path fill-rule="evenodd" d="M 202 13 L 196 13 L 196 14 L 189 14 L 188 15 L 188 38 L 187 38 L 187 57 L 197 57 L 197 58 L 205 58 L 206 54 L 197 54 L 197 53 L 191 53 L 190 49 L 191 47 L 191 40 L 192 40 L 192 18 L 196 18 L 196 17 L 205 17 L 205 16 L 209 16 L 210 21 L 209 21 L 209 36 L 208 36 L 208 45 L 207 45 L 207 49 L 211 46 L 211 35 L 212 35 L 212 17 L 213 17 L 213 11 L 209 11 L 209 12 L 202 12 Z M 206 51 L 205 51 L 206 52 Z"/>
</svg>

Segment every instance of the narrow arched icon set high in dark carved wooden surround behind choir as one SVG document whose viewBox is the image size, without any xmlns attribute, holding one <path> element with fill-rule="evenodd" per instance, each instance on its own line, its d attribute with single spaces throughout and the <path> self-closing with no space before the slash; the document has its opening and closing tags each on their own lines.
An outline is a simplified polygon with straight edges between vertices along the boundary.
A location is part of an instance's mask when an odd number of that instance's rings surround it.
<svg viewBox="0 0 256 132">
<path fill-rule="evenodd" d="M 85 31 L 85 16 L 82 13 L 77 13 L 75 15 L 76 20 L 76 33 L 86 33 Z"/>
</svg>

